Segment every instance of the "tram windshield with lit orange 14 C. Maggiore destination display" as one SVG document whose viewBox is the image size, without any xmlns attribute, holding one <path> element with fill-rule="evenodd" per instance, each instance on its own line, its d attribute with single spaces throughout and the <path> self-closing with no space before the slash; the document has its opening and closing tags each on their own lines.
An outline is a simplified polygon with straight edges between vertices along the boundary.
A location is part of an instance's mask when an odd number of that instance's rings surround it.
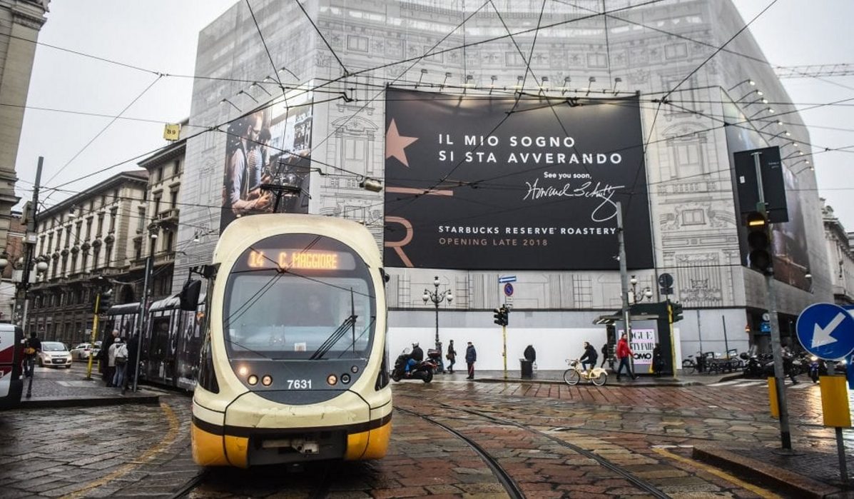
<svg viewBox="0 0 854 499">
<path fill-rule="evenodd" d="M 360 256 L 316 235 L 254 244 L 225 288 L 223 332 L 231 358 L 363 358 L 375 317 L 370 274 Z"/>
</svg>

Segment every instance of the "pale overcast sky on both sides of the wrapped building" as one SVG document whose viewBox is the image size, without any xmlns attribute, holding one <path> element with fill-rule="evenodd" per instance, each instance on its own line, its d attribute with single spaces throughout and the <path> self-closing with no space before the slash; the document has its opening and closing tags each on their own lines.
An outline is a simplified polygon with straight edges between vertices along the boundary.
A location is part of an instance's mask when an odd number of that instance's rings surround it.
<svg viewBox="0 0 854 499">
<path fill-rule="evenodd" d="M 771 0 L 736 0 L 750 21 Z M 32 196 L 38 156 L 44 156 L 42 185 L 57 187 L 85 173 L 145 155 L 165 144 L 163 124 L 190 114 L 192 75 L 198 32 L 235 0 L 86 0 L 50 3 L 39 36 L 27 105 L 114 116 L 65 114 L 27 109 L 16 164 L 18 195 Z M 778 0 L 751 26 L 769 62 L 777 66 L 854 63 L 854 2 L 851 0 Z M 65 50 L 122 62 L 96 61 Z M 177 76 L 158 77 L 154 73 Z M 854 77 L 784 79 L 798 108 L 854 97 Z M 849 147 L 850 152 L 816 154 L 819 195 L 828 200 L 854 231 L 854 101 L 802 114 L 810 126 L 814 152 Z M 839 128 L 831 130 L 829 128 Z M 91 144 L 90 144 L 91 143 Z M 79 192 L 135 161 L 62 189 Z M 73 192 L 50 193 L 48 205 Z M 48 195 L 45 193 L 42 199 Z"/>
</svg>

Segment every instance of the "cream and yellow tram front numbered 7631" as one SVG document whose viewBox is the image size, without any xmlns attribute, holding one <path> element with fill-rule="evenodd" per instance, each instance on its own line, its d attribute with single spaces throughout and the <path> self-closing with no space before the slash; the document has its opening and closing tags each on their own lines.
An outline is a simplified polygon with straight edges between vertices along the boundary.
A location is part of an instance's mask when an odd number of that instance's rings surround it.
<svg viewBox="0 0 854 499">
<path fill-rule="evenodd" d="M 377 459 L 391 429 L 377 245 L 354 222 L 254 215 L 223 232 L 193 397 L 193 458 Z"/>
</svg>

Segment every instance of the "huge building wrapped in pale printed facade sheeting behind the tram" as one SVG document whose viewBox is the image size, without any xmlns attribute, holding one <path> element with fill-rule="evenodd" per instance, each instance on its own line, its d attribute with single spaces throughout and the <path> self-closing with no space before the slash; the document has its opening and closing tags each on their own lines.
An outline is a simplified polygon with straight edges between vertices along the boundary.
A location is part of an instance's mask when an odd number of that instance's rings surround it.
<svg viewBox="0 0 854 499">
<path fill-rule="evenodd" d="M 632 273 L 641 289 L 654 291 L 654 301 L 664 299 L 658 277 L 673 276 L 669 297 L 685 308 L 676 324 L 677 355 L 767 348 L 764 279 L 745 267 L 745 230 L 734 208 L 735 151 L 781 147 L 787 182 L 797 187 L 788 193 L 795 228 L 775 235 L 792 269 L 775 285 L 784 336 L 801 309 L 831 296 L 816 179 L 802 169 L 811 161 L 809 132 L 749 32 L 706 62 L 744 26 L 732 3 L 612 0 L 605 2 L 608 15 L 592 0 L 544 9 L 541 2 L 490 5 L 311 0 L 303 6 L 316 30 L 292 3 L 254 3 L 258 28 L 237 3 L 199 38 L 196 71 L 206 78 L 196 79 L 190 124 L 213 129 L 187 144 L 180 202 L 190 226 L 178 228 L 178 244 L 196 237 L 193 227 L 219 227 L 229 123 L 267 104 L 291 109 L 307 89 L 314 89 L 307 211 L 359 220 L 381 247 L 383 194 L 360 182 L 384 176 L 386 85 L 468 97 L 637 95 L 654 265 Z M 290 104 L 280 103 L 283 94 Z M 215 242 L 205 238 L 179 255 L 178 267 L 208 260 Z M 547 271 L 519 271 L 507 262 L 501 271 L 401 267 L 389 274 L 390 349 L 433 338 L 433 306 L 421 296 L 438 276 L 455 296 L 442 305 L 438 334 L 443 341 L 474 340 L 484 368 L 500 367 L 491 324 L 492 308 L 505 301 L 500 275 L 518 278 L 508 348 L 521 352 L 534 338 L 547 352 L 538 356 L 541 368 L 559 368 L 580 353 L 582 341 L 604 340 L 593 321 L 622 301 L 616 268 L 582 271 L 571 262 Z M 176 271 L 174 282 L 185 277 Z"/>
</svg>

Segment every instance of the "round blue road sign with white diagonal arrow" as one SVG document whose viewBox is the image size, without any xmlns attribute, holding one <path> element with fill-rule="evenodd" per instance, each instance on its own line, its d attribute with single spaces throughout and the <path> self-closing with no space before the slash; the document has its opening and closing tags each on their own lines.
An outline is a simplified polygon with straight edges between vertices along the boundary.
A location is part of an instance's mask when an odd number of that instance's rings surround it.
<svg viewBox="0 0 854 499">
<path fill-rule="evenodd" d="M 795 329 L 804 349 L 822 359 L 832 361 L 854 350 L 854 318 L 839 305 L 816 303 L 804 308 Z"/>
</svg>

